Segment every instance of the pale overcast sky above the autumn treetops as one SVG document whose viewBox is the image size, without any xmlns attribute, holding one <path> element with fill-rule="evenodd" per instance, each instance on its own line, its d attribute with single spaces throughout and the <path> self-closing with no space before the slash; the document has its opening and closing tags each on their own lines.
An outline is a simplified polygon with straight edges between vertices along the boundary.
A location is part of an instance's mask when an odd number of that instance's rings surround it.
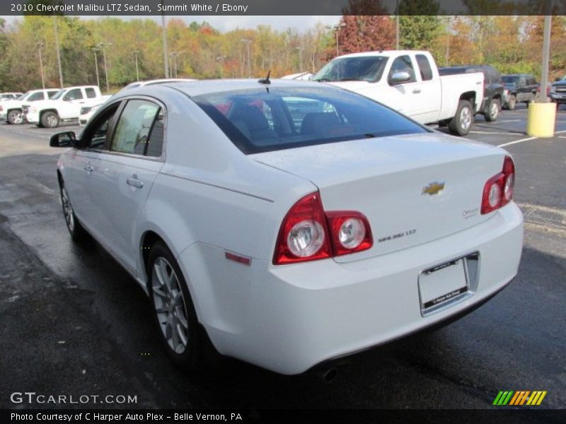
<svg viewBox="0 0 566 424">
<path fill-rule="evenodd" d="M 1 16 L 8 22 L 21 18 L 21 16 Z M 83 19 L 98 19 L 100 16 L 81 16 Z M 161 23 L 161 16 L 117 16 L 122 19 L 145 19 L 151 18 Z M 235 28 L 255 28 L 258 25 L 271 25 L 276 30 L 286 30 L 287 28 L 295 28 L 296 30 L 306 30 L 313 27 L 317 22 L 325 25 L 335 25 L 340 16 L 168 16 L 171 18 L 180 18 L 190 23 L 193 20 L 202 22 L 206 20 L 210 25 L 221 32 L 233 30 Z"/>
</svg>

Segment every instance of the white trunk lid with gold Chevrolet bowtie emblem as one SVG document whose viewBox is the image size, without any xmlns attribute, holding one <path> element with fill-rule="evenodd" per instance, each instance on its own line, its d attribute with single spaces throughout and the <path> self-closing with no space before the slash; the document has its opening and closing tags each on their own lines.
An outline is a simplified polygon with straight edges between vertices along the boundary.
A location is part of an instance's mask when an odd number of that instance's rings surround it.
<svg viewBox="0 0 566 424">
<path fill-rule="evenodd" d="M 313 182 L 325 211 L 359 211 L 368 218 L 374 246 L 335 258 L 347 262 L 420 245 L 487 220 L 490 215 L 480 215 L 483 187 L 501 172 L 504 155 L 501 148 L 430 133 L 250 157 Z"/>
</svg>

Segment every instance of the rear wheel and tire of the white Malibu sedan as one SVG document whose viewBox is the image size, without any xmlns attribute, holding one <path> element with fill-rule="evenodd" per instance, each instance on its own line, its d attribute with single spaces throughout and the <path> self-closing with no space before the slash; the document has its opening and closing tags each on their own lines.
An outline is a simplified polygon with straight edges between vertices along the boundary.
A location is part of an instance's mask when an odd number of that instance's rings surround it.
<svg viewBox="0 0 566 424">
<path fill-rule="evenodd" d="M 161 343 L 176 365 L 195 372 L 202 363 L 202 338 L 183 273 L 163 242 L 151 247 L 147 264 L 151 307 Z"/>
</svg>

